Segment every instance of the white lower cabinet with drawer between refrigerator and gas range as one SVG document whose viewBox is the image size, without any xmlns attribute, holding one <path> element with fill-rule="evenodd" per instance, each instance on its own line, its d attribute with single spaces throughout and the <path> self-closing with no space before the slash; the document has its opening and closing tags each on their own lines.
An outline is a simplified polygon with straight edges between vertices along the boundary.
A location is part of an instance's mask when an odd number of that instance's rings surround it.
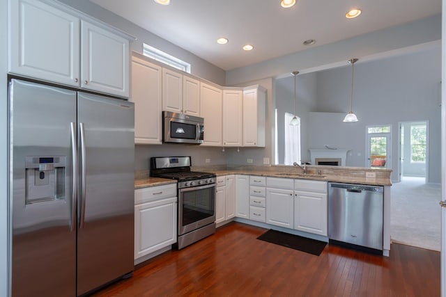
<svg viewBox="0 0 446 297">
<path fill-rule="evenodd" d="M 141 257 L 176 243 L 176 184 L 137 189 L 134 197 L 134 259 L 137 263 Z"/>
</svg>

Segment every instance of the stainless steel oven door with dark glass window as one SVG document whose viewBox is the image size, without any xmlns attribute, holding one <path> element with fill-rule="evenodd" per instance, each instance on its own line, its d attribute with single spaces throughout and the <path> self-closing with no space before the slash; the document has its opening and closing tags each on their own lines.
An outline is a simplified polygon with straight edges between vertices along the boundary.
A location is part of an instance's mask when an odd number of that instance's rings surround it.
<svg viewBox="0 0 446 297">
<path fill-rule="evenodd" d="M 215 184 L 178 190 L 178 235 L 215 222 Z"/>
</svg>

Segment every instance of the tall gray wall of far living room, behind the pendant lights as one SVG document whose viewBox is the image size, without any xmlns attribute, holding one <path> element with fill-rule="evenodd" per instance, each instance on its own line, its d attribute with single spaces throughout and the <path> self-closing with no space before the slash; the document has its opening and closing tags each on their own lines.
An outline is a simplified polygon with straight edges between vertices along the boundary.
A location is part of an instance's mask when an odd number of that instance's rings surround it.
<svg viewBox="0 0 446 297">
<path fill-rule="evenodd" d="M 365 166 L 366 126 L 392 126 L 392 179 L 398 169 L 399 122 L 429 120 L 429 182 L 440 182 L 440 46 L 418 53 L 355 64 L 353 111 L 359 122 L 341 122 L 350 107 L 351 67 L 318 72 L 317 111 L 311 148 L 351 149 L 347 166 Z M 339 116 L 332 113 L 339 113 Z"/>
</svg>

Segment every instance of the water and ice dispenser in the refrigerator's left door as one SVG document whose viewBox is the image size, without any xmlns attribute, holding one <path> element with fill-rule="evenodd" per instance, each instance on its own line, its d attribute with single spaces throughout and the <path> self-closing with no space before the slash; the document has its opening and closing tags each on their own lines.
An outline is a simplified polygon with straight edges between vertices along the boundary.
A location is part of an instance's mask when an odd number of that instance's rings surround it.
<svg viewBox="0 0 446 297">
<path fill-rule="evenodd" d="M 66 156 L 26 156 L 26 204 L 65 199 Z"/>
</svg>

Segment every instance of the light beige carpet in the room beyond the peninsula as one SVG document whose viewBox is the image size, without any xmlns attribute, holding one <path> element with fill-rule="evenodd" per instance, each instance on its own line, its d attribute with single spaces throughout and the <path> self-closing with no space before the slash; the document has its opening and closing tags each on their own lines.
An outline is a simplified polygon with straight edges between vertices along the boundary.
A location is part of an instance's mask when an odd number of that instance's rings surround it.
<svg viewBox="0 0 446 297">
<path fill-rule="evenodd" d="M 393 242 L 440 250 L 440 184 L 403 177 L 391 187 L 390 236 Z"/>
</svg>

